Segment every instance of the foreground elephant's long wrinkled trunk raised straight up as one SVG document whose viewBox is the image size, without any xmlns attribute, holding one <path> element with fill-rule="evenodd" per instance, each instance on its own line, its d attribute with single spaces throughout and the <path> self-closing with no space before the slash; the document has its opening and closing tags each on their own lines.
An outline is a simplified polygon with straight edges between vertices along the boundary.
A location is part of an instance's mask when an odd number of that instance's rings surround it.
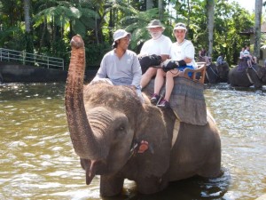
<svg viewBox="0 0 266 200">
<path fill-rule="evenodd" d="M 85 50 L 81 36 L 71 40 L 71 59 L 66 81 L 66 117 L 75 153 L 83 159 L 101 156 L 98 142 L 91 130 L 83 102 Z"/>
</svg>

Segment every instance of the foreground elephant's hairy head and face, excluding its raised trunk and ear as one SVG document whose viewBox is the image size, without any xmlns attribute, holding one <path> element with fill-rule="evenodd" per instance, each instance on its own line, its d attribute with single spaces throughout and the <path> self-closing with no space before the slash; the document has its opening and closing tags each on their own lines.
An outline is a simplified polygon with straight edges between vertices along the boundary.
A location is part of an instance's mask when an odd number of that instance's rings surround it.
<svg viewBox="0 0 266 200">
<path fill-rule="evenodd" d="M 125 92 L 127 96 L 123 95 Z M 84 156 L 78 154 L 82 159 L 82 167 L 87 172 L 89 184 L 93 173 L 118 172 L 127 163 L 131 155 L 130 149 L 137 139 L 139 120 L 145 112 L 136 92 L 123 86 L 89 84 L 84 89 L 84 102 L 87 115 L 82 118 L 88 118 L 90 132 L 86 135 L 88 140 L 79 143 L 75 151 L 93 147 L 84 150 Z M 77 129 L 75 124 L 73 129 Z M 76 137 L 77 134 L 76 132 L 71 137 Z"/>
</svg>

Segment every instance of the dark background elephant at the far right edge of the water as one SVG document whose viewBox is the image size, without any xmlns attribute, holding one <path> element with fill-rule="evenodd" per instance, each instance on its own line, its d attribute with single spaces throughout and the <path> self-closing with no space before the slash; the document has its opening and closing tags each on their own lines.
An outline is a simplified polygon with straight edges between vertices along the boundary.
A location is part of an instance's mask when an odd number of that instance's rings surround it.
<svg viewBox="0 0 266 200">
<path fill-rule="evenodd" d="M 239 65 L 229 72 L 229 83 L 231 86 L 262 88 L 266 84 L 266 68 L 257 64 L 248 68 L 246 60 L 239 60 Z"/>
</svg>

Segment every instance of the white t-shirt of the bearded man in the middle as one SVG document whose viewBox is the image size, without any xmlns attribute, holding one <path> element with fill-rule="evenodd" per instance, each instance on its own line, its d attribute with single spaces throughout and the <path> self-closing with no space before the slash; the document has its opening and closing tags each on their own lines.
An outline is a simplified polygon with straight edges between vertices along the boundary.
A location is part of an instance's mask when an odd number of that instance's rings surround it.
<svg viewBox="0 0 266 200">
<path fill-rule="evenodd" d="M 158 39 L 154 40 L 149 39 L 143 44 L 140 55 L 146 54 L 146 55 L 169 55 L 170 49 L 171 49 L 172 41 L 168 36 L 161 35 Z"/>
</svg>

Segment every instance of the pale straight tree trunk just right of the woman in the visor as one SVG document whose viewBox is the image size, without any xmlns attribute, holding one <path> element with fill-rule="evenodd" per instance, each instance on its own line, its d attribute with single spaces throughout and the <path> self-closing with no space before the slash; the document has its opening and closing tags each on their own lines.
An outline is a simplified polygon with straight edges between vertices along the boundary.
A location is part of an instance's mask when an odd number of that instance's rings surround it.
<svg viewBox="0 0 266 200">
<path fill-rule="evenodd" d="M 208 56 L 212 56 L 214 44 L 215 0 L 207 0 Z"/>
</svg>

